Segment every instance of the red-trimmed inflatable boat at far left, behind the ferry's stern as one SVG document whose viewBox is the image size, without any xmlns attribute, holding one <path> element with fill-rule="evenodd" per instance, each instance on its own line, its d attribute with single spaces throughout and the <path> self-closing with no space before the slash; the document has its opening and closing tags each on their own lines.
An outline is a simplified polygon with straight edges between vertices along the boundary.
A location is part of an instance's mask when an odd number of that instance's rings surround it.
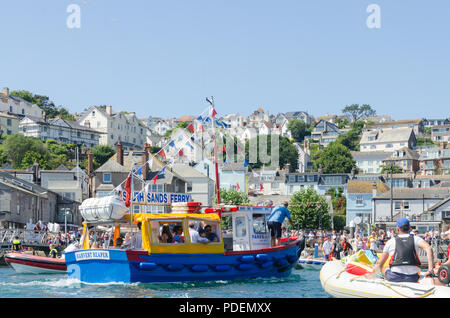
<svg viewBox="0 0 450 318">
<path fill-rule="evenodd" d="M 67 272 L 64 259 L 11 252 L 5 255 L 6 262 L 18 273 L 62 274 Z"/>
</svg>

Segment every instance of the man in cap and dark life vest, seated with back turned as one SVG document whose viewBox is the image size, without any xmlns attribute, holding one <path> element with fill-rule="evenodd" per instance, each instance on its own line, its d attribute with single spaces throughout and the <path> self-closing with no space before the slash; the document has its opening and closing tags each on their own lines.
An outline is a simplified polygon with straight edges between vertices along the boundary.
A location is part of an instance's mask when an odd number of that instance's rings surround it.
<svg viewBox="0 0 450 318">
<path fill-rule="evenodd" d="M 369 277 L 375 277 L 382 270 L 388 281 L 417 282 L 420 278 L 419 249 L 427 253 L 428 271 L 425 273 L 425 277 L 432 275 L 434 256 L 431 246 L 421 237 L 409 234 L 409 231 L 409 220 L 406 218 L 398 219 L 398 235 L 386 243 L 383 253 L 375 264 L 375 270 Z M 381 269 L 389 256 L 391 256 L 389 268 Z"/>
</svg>

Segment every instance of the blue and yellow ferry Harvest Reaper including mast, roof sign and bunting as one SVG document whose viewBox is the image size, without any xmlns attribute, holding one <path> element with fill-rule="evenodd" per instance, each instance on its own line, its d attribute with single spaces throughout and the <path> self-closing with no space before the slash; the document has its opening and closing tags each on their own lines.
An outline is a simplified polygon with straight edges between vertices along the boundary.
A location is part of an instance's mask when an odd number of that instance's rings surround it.
<svg viewBox="0 0 450 318">
<path fill-rule="evenodd" d="M 204 124 L 209 122 L 213 131 L 217 205 L 202 210 L 200 203 L 188 202 L 189 195 L 142 193 L 145 187 L 135 193 L 133 178 L 139 176 L 132 169 L 122 197 L 90 198 L 81 204 L 82 249 L 65 256 L 70 278 L 88 283 L 151 283 L 284 277 L 291 273 L 304 249 L 304 239 L 271 247 L 267 228 L 271 207 L 221 204 L 214 123 L 217 112 L 212 97 L 207 101 L 209 115 Z M 171 144 L 167 144 L 169 148 Z M 158 154 L 166 158 L 164 148 Z M 155 176 L 155 182 L 165 168 Z M 147 200 L 149 205 L 155 201 L 177 203 L 171 204 L 171 213 L 135 213 L 134 204 L 139 200 Z M 121 228 L 133 229 L 135 225 L 139 225 L 138 232 L 133 234 L 141 238 L 141 248 L 120 248 L 117 239 L 123 233 Z M 111 247 L 93 248 L 90 232 L 99 226 L 114 233 Z M 211 230 L 203 234 L 206 228 Z"/>
</svg>

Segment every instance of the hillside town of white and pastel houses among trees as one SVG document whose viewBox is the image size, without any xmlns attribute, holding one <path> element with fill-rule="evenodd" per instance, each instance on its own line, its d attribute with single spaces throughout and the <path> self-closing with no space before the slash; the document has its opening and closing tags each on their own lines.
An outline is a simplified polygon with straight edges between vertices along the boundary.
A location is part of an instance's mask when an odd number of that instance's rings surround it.
<svg viewBox="0 0 450 318">
<path fill-rule="evenodd" d="M 0 93 L 1 228 L 38 222 L 78 228 L 83 200 L 113 193 L 138 165 L 148 191 L 189 194 L 203 206 L 214 205 L 212 138 L 197 135 L 211 117 L 138 118 L 111 105 L 72 114 L 24 92 Z M 241 192 L 250 204 L 277 205 L 313 189 L 329 202 L 338 230 L 386 229 L 400 217 L 421 234 L 448 228 L 450 118 L 394 120 L 355 104 L 336 111 L 270 114 L 257 108 L 246 115 L 218 109 L 214 131 L 233 140 L 219 153 L 236 159 L 219 162 L 221 190 Z M 279 164 L 249 163 L 249 141 L 274 135 L 280 138 Z M 34 143 L 20 150 L 29 140 Z M 230 148 L 235 156 L 228 156 Z M 157 205 L 145 209 L 167 212 Z"/>
</svg>

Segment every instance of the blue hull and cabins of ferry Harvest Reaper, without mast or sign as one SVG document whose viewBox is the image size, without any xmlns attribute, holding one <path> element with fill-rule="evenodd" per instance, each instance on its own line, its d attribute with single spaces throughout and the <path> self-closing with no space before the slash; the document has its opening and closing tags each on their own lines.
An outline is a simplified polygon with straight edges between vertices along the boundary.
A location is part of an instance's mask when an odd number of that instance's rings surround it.
<svg viewBox="0 0 450 318">
<path fill-rule="evenodd" d="M 80 207 L 80 209 L 82 209 Z M 142 249 L 89 247 L 89 231 L 104 221 L 83 224 L 83 249 L 66 253 L 70 278 L 88 283 L 151 283 L 248 279 L 288 276 L 304 248 L 304 239 L 270 246 L 266 219 L 270 207 L 235 206 L 205 209 L 202 213 L 138 213 L 131 222 L 141 224 Z M 114 221 L 117 237 L 130 214 Z M 213 229 L 217 240 L 194 242 L 189 226 Z M 226 230 L 227 226 L 233 231 Z M 161 240 L 163 228 L 180 229 L 180 239 Z M 192 231 L 192 229 L 191 229 Z"/>
</svg>

